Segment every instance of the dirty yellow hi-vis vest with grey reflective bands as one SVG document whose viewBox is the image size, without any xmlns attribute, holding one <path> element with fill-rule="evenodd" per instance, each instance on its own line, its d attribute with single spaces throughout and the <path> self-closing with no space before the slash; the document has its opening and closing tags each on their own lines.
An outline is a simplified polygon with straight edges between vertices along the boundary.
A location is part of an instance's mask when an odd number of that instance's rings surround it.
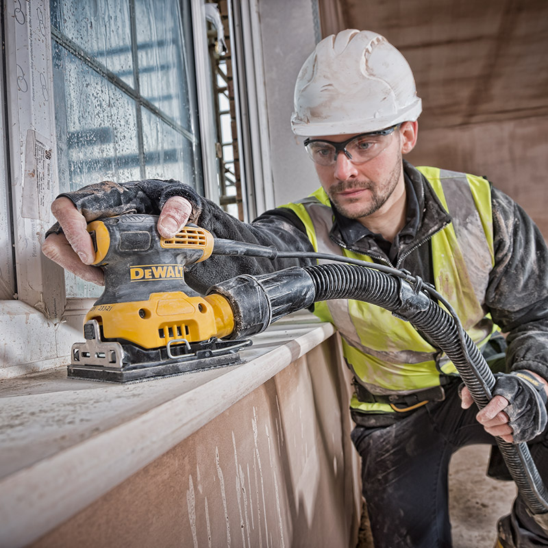
<svg viewBox="0 0 548 548">
<path fill-rule="evenodd" d="M 490 184 L 482 177 L 418 169 L 451 215 L 451 223 L 432 236 L 436 290 L 453 306 L 472 340 L 482 347 L 497 329 L 484 310 L 489 273 L 494 264 Z M 333 212 L 320 188 L 308 198 L 289 203 L 306 227 L 314 249 L 373 262 L 336 245 L 329 238 Z M 377 395 L 409 394 L 440 384 L 442 375 L 457 375 L 447 356 L 430 345 L 406 321 L 370 303 L 338 299 L 316 303 L 314 314 L 336 325 L 345 359 L 357 381 Z M 351 408 L 392 412 L 387 403 L 364 403 L 356 395 Z"/>
</svg>

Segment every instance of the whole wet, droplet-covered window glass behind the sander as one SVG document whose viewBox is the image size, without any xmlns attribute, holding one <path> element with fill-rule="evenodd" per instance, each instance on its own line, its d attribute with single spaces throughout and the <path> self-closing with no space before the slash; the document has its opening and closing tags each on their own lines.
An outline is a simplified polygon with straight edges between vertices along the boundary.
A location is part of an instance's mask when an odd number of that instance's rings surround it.
<svg viewBox="0 0 548 548">
<path fill-rule="evenodd" d="M 203 191 L 181 5 L 51 0 L 61 191 L 179 179 Z M 67 297 L 100 288 L 66 276 Z"/>
</svg>

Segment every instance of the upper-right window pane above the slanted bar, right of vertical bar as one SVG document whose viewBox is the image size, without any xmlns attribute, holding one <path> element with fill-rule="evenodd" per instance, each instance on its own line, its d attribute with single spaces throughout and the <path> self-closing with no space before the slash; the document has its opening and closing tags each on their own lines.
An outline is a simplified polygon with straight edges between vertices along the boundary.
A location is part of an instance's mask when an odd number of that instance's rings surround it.
<svg viewBox="0 0 548 548">
<path fill-rule="evenodd" d="M 190 129 L 179 2 L 136 0 L 135 13 L 140 94 L 184 129 Z"/>
</svg>

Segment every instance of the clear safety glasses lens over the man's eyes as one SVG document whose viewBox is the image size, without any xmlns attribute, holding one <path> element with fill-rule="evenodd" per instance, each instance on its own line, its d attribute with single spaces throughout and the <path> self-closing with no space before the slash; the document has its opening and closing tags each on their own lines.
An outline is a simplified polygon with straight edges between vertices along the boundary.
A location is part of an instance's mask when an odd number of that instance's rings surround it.
<svg viewBox="0 0 548 548">
<path fill-rule="evenodd" d="M 321 166 L 332 166 L 337 155 L 343 152 L 352 164 L 373 160 L 390 145 L 396 125 L 380 132 L 364 133 L 343 142 L 307 139 L 304 142 L 310 158 Z"/>
</svg>

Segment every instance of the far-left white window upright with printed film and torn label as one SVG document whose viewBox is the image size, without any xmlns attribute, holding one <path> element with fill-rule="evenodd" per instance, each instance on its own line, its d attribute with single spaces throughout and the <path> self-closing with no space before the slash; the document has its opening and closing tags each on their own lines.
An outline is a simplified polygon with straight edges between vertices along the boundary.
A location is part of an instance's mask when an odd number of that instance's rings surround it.
<svg viewBox="0 0 548 548">
<path fill-rule="evenodd" d="M 15 0 L 11 13 L 6 6 L 4 25 L 18 299 L 54 318 L 65 303 L 59 284 L 48 282 L 59 270 L 40 253 L 41 234 L 51 224 L 57 169 L 47 18 L 47 0 Z"/>
</svg>

